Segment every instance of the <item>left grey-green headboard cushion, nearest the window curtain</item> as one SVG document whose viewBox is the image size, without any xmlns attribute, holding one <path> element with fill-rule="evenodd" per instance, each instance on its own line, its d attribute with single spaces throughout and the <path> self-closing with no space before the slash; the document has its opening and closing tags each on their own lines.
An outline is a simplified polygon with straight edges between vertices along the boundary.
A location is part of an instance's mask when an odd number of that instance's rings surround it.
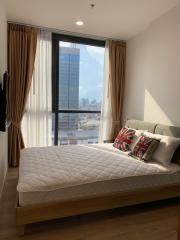
<svg viewBox="0 0 180 240">
<path fill-rule="evenodd" d="M 148 132 L 154 133 L 156 123 L 144 122 L 140 120 L 127 120 L 126 126 L 137 130 L 147 130 Z"/>
</svg>

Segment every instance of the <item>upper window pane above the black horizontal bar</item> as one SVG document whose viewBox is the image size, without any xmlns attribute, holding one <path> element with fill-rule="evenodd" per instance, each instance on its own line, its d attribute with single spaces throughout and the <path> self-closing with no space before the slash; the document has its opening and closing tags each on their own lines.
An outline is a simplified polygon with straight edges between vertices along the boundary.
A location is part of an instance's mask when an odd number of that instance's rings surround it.
<svg viewBox="0 0 180 240">
<path fill-rule="evenodd" d="M 101 110 L 104 51 L 59 42 L 59 109 Z"/>
</svg>

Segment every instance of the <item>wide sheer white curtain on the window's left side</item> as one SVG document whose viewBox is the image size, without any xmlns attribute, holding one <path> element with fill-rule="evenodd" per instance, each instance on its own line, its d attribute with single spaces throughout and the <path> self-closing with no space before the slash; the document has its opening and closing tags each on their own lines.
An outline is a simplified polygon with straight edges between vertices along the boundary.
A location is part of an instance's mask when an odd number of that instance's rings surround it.
<svg viewBox="0 0 180 240">
<path fill-rule="evenodd" d="M 26 147 L 52 145 L 51 32 L 40 30 L 22 131 Z"/>
</svg>

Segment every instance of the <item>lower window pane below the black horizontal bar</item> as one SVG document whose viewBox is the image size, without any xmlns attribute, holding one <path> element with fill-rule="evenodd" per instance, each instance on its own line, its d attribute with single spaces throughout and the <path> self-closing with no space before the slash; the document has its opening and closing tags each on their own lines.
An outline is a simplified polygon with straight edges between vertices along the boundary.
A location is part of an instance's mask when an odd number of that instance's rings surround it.
<svg viewBox="0 0 180 240">
<path fill-rule="evenodd" d="M 60 113 L 59 145 L 97 143 L 100 114 Z"/>
</svg>

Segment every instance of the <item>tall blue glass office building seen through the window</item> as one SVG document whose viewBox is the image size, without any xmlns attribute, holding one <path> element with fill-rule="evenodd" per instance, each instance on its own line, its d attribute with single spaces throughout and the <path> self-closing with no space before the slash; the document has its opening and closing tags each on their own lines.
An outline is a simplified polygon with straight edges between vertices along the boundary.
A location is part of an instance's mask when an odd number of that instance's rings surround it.
<svg viewBox="0 0 180 240">
<path fill-rule="evenodd" d="M 79 108 L 80 49 L 60 47 L 59 55 L 59 108 Z M 61 114 L 60 129 L 77 129 L 78 114 Z"/>
</svg>

